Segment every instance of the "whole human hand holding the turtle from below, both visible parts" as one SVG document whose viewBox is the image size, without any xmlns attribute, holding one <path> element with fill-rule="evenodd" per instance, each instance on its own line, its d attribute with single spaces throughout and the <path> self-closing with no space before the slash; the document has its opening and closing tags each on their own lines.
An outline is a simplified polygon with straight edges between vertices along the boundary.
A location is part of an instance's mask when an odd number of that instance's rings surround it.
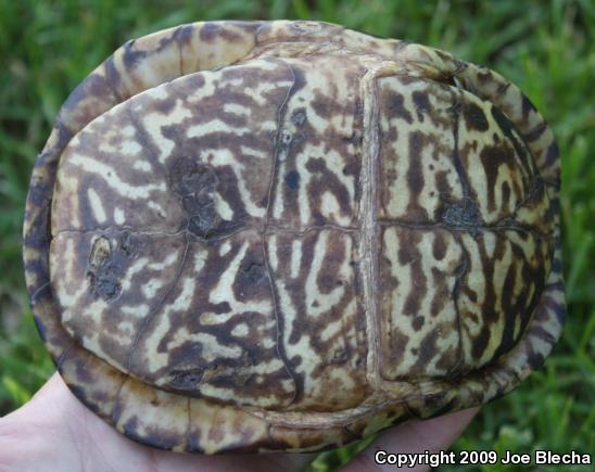
<svg viewBox="0 0 595 472">
<path fill-rule="evenodd" d="M 426 421 L 410 421 L 382 432 L 345 465 L 345 472 L 394 470 L 378 465 L 375 454 L 446 449 L 478 409 Z M 198 456 L 137 444 L 89 411 L 54 374 L 22 408 L 0 419 L 0 472 L 25 471 L 299 471 L 314 454 Z M 409 469 L 427 470 L 427 467 Z"/>
</svg>

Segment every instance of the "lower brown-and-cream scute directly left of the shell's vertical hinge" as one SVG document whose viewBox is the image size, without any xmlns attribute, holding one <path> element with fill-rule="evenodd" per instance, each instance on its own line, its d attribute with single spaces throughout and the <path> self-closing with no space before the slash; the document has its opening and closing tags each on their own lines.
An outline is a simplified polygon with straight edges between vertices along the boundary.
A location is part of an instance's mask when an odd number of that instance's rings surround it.
<svg viewBox="0 0 595 472">
<path fill-rule="evenodd" d="M 358 243 L 336 228 L 266 237 L 280 344 L 298 388 L 292 409 L 344 410 L 371 393 Z"/>
</svg>

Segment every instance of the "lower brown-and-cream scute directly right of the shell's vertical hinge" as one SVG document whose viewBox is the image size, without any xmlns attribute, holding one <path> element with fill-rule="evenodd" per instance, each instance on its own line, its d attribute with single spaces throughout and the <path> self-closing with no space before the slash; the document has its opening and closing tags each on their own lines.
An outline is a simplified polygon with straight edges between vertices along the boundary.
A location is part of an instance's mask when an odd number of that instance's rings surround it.
<svg viewBox="0 0 595 472">
<path fill-rule="evenodd" d="M 382 378 L 448 377 L 461 367 L 461 244 L 444 229 L 391 225 L 380 229 L 380 254 Z"/>
</svg>

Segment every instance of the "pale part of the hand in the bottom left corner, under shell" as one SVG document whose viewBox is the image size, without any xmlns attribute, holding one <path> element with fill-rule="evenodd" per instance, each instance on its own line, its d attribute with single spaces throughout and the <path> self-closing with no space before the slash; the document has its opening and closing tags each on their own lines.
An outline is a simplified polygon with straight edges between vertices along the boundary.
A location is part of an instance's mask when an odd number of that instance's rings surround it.
<svg viewBox="0 0 595 472">
<path fill-rule="evenodd" d="M 137 444 L 89 411 L 55 373 L 0 419 L 0 471 L 299 471 L 315 455 L 200 456 Z"/>
</svg>

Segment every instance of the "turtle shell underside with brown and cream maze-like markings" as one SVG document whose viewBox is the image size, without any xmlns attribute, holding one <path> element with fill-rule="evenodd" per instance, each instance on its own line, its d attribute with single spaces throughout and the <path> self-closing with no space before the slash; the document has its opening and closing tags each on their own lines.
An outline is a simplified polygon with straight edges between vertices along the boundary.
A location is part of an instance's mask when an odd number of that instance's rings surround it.
<svg viewBox="0 0 595 472">
<path fill-rule="evenodd" d="M 544 362 L 559 188 L 549 126 L 490 68 L 328 23 L 183 24 L 62 106 L 27 290 L 69 390 L 129 438 L 328 449 Z"/>
</svg>

